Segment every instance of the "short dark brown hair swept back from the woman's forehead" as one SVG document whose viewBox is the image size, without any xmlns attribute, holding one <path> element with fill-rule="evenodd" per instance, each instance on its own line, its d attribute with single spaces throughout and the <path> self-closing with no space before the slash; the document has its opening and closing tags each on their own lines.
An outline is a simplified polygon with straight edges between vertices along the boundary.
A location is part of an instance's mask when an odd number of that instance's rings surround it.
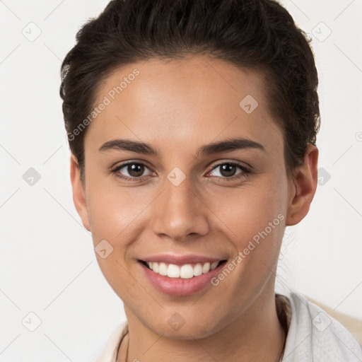
<svg viewBox="0 0 362 362">
<path fill-rule="evenodd" d="M 64 122 L 81 175 L 86 129 L 79 127 L 110 72 L 151 58 L 202 54 L 262 71 L 292 175 L 320 127 L 318 77 L 309 42 L 274 0 L 110 1 L 78 31 L 76 45 L 62 63 Z"/>
</svg>

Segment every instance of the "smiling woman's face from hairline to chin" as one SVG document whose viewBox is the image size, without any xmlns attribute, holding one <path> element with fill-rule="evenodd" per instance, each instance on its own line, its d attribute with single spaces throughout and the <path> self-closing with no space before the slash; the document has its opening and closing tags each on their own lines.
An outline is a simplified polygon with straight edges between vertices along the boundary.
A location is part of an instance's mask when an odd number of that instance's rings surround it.
<svg viewBox="0 0 362 362">
<path fill-rule="evenodd" d="M 201 338 L 274 295 L 298 192 L 261 74 L 153 59 L 114 71 L 100 103 L 74 202 L 127 319 Z"/>
</svg>

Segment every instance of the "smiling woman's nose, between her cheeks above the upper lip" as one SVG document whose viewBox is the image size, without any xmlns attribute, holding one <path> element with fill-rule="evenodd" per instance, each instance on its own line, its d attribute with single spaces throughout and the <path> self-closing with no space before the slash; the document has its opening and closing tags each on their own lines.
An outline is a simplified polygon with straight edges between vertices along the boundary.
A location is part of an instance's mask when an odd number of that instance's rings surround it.
<svg viewBox="0 0 362 362">
<path fill-rule="evenodd" d="M 188 177 L 180 185 L 165 179 L 153 206 L 153 232 L 159 236 L 186 241 L 209 233 L 206 204 Z"/>
</svg>

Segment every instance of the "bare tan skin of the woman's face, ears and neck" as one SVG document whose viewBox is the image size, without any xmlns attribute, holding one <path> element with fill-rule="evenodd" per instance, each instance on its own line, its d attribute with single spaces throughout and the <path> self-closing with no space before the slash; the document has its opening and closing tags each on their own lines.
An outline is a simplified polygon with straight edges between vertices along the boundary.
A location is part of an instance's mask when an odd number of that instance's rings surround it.
<svg viewBox="0 0 362 362">
<path fill-rule="evenodd" d="M 128 361 L 163 362 L 170 356 L 173 361 L 278 361 L 285 339 L 274 299 L 279 250 L 285 226 L 298 223 L 310 208 L 318 150 L 308 146 L 303 165 L 287 177 L 284 138 L 269 111 L 267 81 L 221 60 L 129 64 L 105 80 L 96 104 L 135 68 L 139 76 L 88 128 L 84 184 L 71 156 L 74 204 L 83 226 L 94 246 L 105 239 L 114 248 L 107 258 L 97 258 L 124 303 Z M 251 114 L 239 106 L 248 94 L 259 103 Z M 264 151 L 243 148 L 197 157 L 201 146 L 235 137 L 258 142 Z M 151 144 L 160 154 L 99 151 L 105 142 L 122 138 Z M 112 173 L 128 160 L 146 165 L 144 180 L 121 180 Z M 252 172 L 236 167 L 234 180 L 226 180 L 230 176 L 214 167 L 230 162 Z M 178 186 L 167 178 L 175 167 L 186 176 Z M 132 177 L 127 167 L 120 173 Z M 165 295 L 151 286 L 137 262 L 161 252 L 231 262 L 279 214 L 284 220 L 238 267 L 199 293 Z M 168 323 L 174 313 L 185 320 L 178 330 Z"/>
</svg>

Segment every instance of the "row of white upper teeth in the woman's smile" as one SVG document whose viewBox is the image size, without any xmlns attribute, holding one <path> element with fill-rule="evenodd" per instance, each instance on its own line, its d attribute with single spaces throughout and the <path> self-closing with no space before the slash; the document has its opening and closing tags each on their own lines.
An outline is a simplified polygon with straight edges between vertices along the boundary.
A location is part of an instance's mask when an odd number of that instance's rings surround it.
<svg viewBox="0 0 362 362">
<path fill-rule="evenodd" d="M 146 262 L 148 267 L 153 270 L 156 274 L 163 276 L 168 276 L 169 278 L 181 278 L 181 279 L 190 279 L 194 276 L 199 276 L 201 274 L 209 273 L 210 270 L 214 270 L 218 266 L 219 262 L 204 264 L 197 263 L 192 267 L 191 264 L 185 264 L 179 267 L 175 264 L 166 265 L 163 262 Z"/>
</svg>

